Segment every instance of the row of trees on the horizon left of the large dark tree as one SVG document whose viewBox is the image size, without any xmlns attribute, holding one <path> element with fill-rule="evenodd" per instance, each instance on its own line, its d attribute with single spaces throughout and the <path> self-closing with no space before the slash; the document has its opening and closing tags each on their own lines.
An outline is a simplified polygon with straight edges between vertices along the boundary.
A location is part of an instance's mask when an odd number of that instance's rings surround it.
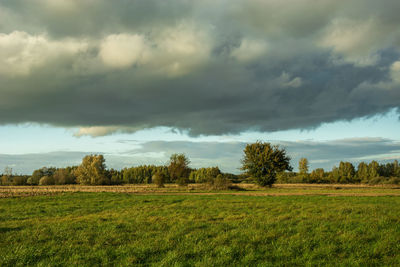
<svg viewBox="0 0 400 267">
<path fill-rule="evenodd" d="M 193 169 L 184 154 L 173 154 L 167 165 L 140 165 L 122 170 L 107 169 L 103 155 L 88 155 L 79 166 L 65 168 L 43 167 L 32 175 L 13 175 L 6 167 L 0 176 L 0 185 L 121 185 L 165 183 L 215 183 L 218 180 L 236 181 L 240 176 L 223 173 L 218 167 Z"/>
</svg>

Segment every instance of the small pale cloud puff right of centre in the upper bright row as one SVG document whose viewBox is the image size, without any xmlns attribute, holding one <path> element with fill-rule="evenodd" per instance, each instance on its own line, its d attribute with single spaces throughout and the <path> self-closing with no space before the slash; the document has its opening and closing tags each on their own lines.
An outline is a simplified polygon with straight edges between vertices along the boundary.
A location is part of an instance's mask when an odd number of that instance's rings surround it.
<svg viewBox="0 0 400 267">
<path fill-rule="evenodd" d="M 264 41 L 243 39 L 240 46 L 231 52 L 231 56 L 241 62 L 248 62 L 262 56 L 267 50 Z"/>
</svg>

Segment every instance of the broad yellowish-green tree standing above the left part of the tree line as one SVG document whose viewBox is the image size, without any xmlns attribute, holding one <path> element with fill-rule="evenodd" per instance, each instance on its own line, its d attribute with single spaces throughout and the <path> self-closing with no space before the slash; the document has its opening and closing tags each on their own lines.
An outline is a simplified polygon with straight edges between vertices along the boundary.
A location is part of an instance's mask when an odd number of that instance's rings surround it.
<svg viewBox="0 0 400 267">
<path fill-rule="evenodd" d="M 103 155 L 89 155 L 83 158 L 81 165 L 74 172 L 79 184 L 109 184 Z"/>
</svg>

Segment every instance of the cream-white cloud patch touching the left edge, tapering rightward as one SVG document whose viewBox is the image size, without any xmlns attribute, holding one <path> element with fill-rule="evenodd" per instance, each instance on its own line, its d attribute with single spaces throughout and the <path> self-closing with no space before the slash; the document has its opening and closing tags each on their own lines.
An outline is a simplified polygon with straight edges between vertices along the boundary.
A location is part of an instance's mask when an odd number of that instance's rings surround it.
<svg viewBox="0 0 400 267">
<path fill-rule="evenodd" d="M 30 35 L 20 31 L 0 34 L 0 74 L 29 75 L 35 67 L 87 47 L 87 42 L 82 40 L 52 41 L 45 34 Z"/>
</svg>

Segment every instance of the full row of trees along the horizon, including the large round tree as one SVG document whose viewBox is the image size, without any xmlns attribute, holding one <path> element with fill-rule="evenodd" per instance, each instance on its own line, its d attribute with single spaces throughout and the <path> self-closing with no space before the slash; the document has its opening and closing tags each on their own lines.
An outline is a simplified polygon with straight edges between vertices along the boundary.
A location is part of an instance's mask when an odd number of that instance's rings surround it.
<svg viewBox="0 0 400 267">
<path fill-rule="evenodd" d="M 400 166 L 395 160 L 380 164 L 361 162 L 357 168 L 350 162 L 340 162 L 331 171 L 322 168 L 309 171 L 306 158 L 299 161 L 299 171 L 293 172 L 290 157 L 284 148 L 265 142 L 246 145 L 243 151 L 244 173 L 223 173 L 218 167 L 193 169 L 185 154 L 172 154 L 166 165 L 141 165 L 122 170 L 107 169 L 103 155 L 88 155 L 79 166 L 66 168 L 43 167 L 32 175 L 13 175 L 6 167 L 0 185 L 121 185 L 165 183 L 187 185 L 205 183 L 214 188 L 226 188 L 230 183 L 255 182 L 261 186 L 273 183 L 365 183 L 400 184 Z"/>
</svg>

